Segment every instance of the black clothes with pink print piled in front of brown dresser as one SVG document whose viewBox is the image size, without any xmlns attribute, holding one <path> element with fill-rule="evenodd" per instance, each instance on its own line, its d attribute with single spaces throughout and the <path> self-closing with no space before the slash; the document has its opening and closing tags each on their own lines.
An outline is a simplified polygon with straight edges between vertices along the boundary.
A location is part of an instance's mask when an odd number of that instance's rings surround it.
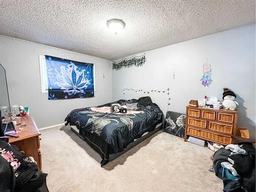
<svg viewBox="0 0 256 192">
<path fill-rule="evenodd" d="M 1 192 L 49 192 L 46 177 L 32 157 L 24 157 L 8 138 L 0 138 Z"/>
</svg>

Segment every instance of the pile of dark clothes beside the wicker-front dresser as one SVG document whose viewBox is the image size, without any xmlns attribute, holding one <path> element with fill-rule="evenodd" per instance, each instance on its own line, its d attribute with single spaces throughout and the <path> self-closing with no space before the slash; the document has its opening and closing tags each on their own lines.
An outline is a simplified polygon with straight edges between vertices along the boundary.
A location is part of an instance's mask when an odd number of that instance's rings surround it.
<svg viewBox="0 0 256 192">
<path fill-rule="evenodd" d="M 233 136 L 233 143 L 214 154 L 214 170 L 225 192 L 255 191 L 255 140 Z"/>
</svg>

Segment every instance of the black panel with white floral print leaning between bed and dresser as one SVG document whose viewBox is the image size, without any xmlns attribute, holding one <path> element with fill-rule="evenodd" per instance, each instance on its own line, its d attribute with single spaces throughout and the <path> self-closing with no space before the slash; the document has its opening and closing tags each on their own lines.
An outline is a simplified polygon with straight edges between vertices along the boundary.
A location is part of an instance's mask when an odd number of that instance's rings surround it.
<svg viewBox="0 0 256 192">
<path fill-rule="evenodd" d="M 166 133 L 184 138 L 186 115 L 168 111 L 166 113 L 163 130 Z"/>
</svg>

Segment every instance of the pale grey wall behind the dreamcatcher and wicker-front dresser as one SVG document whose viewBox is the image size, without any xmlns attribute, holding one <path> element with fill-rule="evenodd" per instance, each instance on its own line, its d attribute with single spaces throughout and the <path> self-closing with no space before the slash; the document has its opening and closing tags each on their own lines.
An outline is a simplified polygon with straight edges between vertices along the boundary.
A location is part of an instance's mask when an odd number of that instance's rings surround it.
<svg viewBox="0 0 256 192">
<path fill-rule="evenodd" d="M 145 56 L 143 67 L 113 71 L 114 100 L 147 95 L 132 91 L 123 95 L 123 87 L 169 87 L 169 110 L 185 112 L 190 99 L 202 100 L 204 95 L 222 99 L 223 88 L 227 87 L 236 93 L 236 101 L 240 103 L 239 128 L 248 128 L 251 136 L 255 137 L 255 24 L 147 51 Z M 200 79 L 202 65 L 207 58 L 213 82 L 209 87 L 203 87 Z M 165 113 L 167 96 L 158 93 L 150 96 Z"/>
</svg>

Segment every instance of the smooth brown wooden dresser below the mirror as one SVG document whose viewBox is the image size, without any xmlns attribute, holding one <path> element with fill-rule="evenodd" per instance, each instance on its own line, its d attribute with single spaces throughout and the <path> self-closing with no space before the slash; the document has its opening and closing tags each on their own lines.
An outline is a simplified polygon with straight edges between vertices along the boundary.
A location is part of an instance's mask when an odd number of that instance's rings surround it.
<svg viewBox="0 0 256 192">
<path fill-rule="evenodd" d="M 42 170 L 41 153 L 40 153 L 40 138 L 37 126 L 31 116 L 17 118 L 15 130 L 18 132 L 14 135 L 18 138 L 9 138 L 9 143 L 16 145 L 20 151 L 25 152 L 25 156 L 32 156 L 37 162 L 38 169 Z M 26 126 L 25 126 L 26 125 Z"/>
</svg>

